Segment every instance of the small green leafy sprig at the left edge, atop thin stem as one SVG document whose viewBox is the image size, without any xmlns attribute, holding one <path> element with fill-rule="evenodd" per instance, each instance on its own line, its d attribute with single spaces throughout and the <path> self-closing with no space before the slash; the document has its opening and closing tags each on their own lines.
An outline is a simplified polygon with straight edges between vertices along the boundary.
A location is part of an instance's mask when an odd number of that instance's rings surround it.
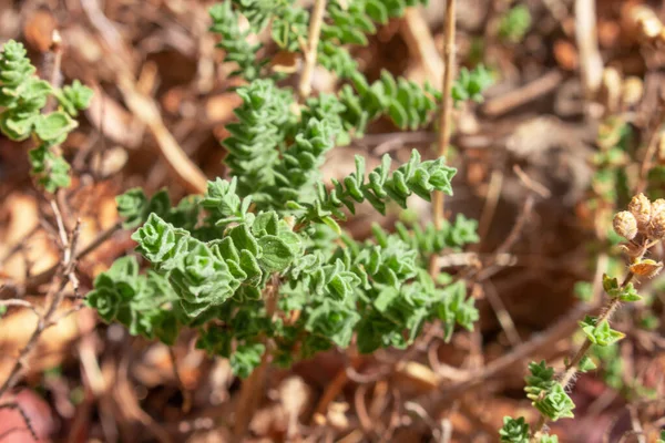
<svg viewBox="0 0 665 443">
<path fill-rule="evenodd" d="M 73 119 L 88 107 L 92 90 L 79 81 L 59 89 L 37 78 L 35 71 L 21 43 L 4 43 L 0 53 L 0 131 L 14 141 L 34 140 L 32 174 L 53 193 L 70 184 L 70 165 L 59 145 L 78 126 Z M 58 100 L 59 109 L 44 113 L 50 96 Z"/>
</svg>

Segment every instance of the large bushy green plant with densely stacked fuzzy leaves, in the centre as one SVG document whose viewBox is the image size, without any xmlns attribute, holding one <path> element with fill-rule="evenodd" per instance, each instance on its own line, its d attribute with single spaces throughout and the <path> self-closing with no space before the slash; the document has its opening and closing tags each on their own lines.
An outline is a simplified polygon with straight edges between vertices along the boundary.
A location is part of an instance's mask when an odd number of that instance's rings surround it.
<svg viewBox="0 0 665 443">
<path fill-rule="evenodd" d="M 383 72 L 369 82 L 347 47 L 415 1 L 329 1 L 321 25 L 318 63 L 338 75 L 337 94 L 298 96 L 260 59 L 249 33 L 269 28 L 283 51 L 304 51 L 309 11 L 295 1 L 227 1 L 211 9 L 243 103 L 223 145 L 229 179 L 208 182 L 204 196 L 173 206 L 165 190 L 152 197 L 131 189 L 117 197 L 126 228 L 150 262 L 116 260 L 94 281 L 86 303 L 130 333 L 174 343 L 183 328 L 198 332 L 197 346 L 228 358 L 247 377 L 266 352 L 279 365 L 334 347 L 355 343 L 360 352 L 408 347 L 428 322 L 440 320 L 446 338 L 457 324 L 478 319 L 463 280 L 434 281 L 429 258 L 478 241 L 475 222 L 458 216 L 440 229 L 399 225 L 390 234 L 372 227 L 357 241 L 338 222 L 367 202 L 380 214 L 407 207 L 411 196 L 452 194 L 456 169 L 443 158 L 422 161 L 413 151 L 397 168 L 383 156 L 371 171 L 356 157 L 356 171 L 330 184 L 320 166 L 335 146 L 360 137 L 372 121 L 390 119 L 402 128 L 430 123 L 440 93 Z M 348 8 L 347 8 L 348 7 Z M 238 20 L 249 23 L 241 31 Z M 489 84 L 482 69 L 466 72 L 459 100 L 480 100 Z"/>
</svg>

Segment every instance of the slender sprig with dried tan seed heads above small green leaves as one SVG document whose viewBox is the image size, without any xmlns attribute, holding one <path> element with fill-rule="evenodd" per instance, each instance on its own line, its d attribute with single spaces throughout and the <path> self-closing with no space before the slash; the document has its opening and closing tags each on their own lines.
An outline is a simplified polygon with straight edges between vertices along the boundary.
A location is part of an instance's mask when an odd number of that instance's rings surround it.
<svg viewBox="0 0 665 443">
<path fill-rule="evenodd" d="M 615 214 L 613 219 L 614 230 L 624 238 L 622 247 L 630 259 L 626 277 L 620 284 L 615 277 L 603 276 L 603 289 L 608 300 L 598 317 L 586 316 L 580 321 L 585 340 L 574 357 L 566 360 L 564 370 L 557 377 L 554 377 L 554 369 L 544 361 L 529 365 L 531 375 L 525 378 L 524 391 L 539 411 L 540 419 L 531 431 L 524 426 L 519 427 L 520 437 L 529 439 L 523 441 L 542 441 L 542 430 L 548 421 L 573 416 L 575 404 L 566 389 L 573 383 L 575 373 L 596 368 L 587 356 L 592 347 L 610 348 L 624 337 L 622 332 L 612 329 L 610 321 L 622 302 L 642 299 L 632 280 L 635 277 L 653 278 L 663 268 L 662 262 L 644 256 L 665 238 L 665 200 L 651 202 L 644 194 L 640 194 L 631 199 L 628 209 Z M 516 434 L 515 423 L 518 421 L 507 418 L 500 435 Z"/>
</svg>

